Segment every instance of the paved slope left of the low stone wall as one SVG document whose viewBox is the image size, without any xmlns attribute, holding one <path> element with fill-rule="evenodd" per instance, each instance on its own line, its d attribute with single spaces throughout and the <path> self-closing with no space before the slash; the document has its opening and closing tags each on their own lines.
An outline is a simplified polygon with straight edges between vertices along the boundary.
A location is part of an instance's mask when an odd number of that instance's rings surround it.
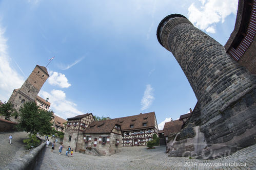
<svg viewBox="0 0 256 170">
<path fill-rule="evenodd" d="M 12 144 L 8 142 L 12 134 Z M 2 132 L 0 133 L 0 168 L 8 165 L 13 159 L 24 154 L 25 144 L 23 139 L 28 138 L 26 132 Z"/>
</svg>

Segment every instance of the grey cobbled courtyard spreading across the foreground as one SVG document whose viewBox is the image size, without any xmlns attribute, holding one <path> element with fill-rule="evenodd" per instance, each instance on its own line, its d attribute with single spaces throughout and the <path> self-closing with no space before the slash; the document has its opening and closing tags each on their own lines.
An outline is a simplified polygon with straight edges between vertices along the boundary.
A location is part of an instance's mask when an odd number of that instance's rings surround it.
<svg viewBox="0 0 256 170">
<path fill-rule="evenodd" d="M 62 155 L 58 154 L 58 146 L 59 144 L 54 153 L 50 153 L 51 148 L 46 149 L 36 169 L 256 169 L 256 145 L 215 160 L 168 157 L 163 146 L 154 150 L 147 150 L 146 147 L 123 147 L 122 152 L 111 156 L 74 153 L 73 157 L 68 157 L 65 156 L 65 148 Z M 232 163 L 239 163 L 240 166 Z"/>
</svg>

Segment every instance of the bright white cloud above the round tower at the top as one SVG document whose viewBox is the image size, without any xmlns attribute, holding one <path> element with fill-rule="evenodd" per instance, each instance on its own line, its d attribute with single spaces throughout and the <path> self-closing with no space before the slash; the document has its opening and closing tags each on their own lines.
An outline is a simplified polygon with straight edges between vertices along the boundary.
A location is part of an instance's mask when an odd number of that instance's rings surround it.
<svg viewBox="0 0 256 170">
<path fill-rule="evenodd" d="M 224 22 L 231 13 L 236 14 L 238 1 L 234 0 L 200 0 L 202 6 L 195 7 L 194 3 L 188 8 L 188 19 L 198 27 L 209 33 L 215 33 L 214 23 Z"/>
</svg>

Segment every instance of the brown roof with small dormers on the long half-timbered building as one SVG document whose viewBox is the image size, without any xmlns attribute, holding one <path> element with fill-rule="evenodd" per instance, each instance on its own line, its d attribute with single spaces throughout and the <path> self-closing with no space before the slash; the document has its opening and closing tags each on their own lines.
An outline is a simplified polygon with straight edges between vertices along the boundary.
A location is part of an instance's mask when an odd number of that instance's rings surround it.
<svg viewBox="0 0 256 170">
<path fill-rule="evenodd" d="M 122 131 L 131 131 L 138 129 L 148 129 L 154 127 L 155 112 L 149 112 L 144 114 L 138 114 L 134 116 L 115 118 L 121 124 Z M 147 123 L 147 126 L 143 126 L 143 123 Z M 130 128 L 133 125 L 133 128 Z"/>
</svg>

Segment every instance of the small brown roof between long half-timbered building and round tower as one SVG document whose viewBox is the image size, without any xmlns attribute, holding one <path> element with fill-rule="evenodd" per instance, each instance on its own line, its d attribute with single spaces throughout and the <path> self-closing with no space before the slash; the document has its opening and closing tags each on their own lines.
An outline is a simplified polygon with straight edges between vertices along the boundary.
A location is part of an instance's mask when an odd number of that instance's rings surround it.
<svg viewBox="0 0 256 170">
<path fill-rule="evenodd" d="M 168 136 L 171 133 L 178 133 L 181 131 L 183 122 L 181 120 L 173 120 L 166 122 L 164 126 L 164 136 Z"/>
</svg>

